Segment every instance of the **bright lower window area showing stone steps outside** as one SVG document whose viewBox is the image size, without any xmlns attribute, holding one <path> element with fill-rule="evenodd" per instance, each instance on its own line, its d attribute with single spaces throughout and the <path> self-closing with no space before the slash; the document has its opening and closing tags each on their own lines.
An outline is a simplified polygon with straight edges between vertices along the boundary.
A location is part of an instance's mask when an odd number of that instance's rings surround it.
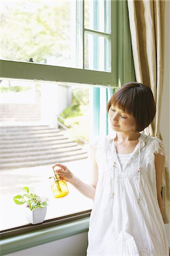
<svg viewBox="0 0 170 256">
<path fill-rule="evenodd" d="M 69 195 L 51 191 L 52 165 L 60 162 L 90 183 L 90 90 L 92 86 L 1 81 L 1 229 L 27 224 L 26 204 L 13 197 L 22 187 L 49 198 L 46 220 L 89 210 L 92 200 L 68 183 Z M 12 209 L 12 210 L 11 210 Z"/>
</svg>

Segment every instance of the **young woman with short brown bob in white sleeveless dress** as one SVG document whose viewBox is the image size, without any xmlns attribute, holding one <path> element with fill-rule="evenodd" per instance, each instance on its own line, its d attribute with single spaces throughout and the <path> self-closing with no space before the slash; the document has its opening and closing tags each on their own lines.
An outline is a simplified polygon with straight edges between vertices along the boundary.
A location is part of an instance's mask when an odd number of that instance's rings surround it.
<svg viewBox="0 0 170 256">
<path fill-rule="evenodd" d="M 141 133 L 156 112 L 151 89 L 137 82 L 123 85 L 107 112 L 114 132 L 93 143 L 92 184 L 54 165 L 61 179 L 94 200 L 87 255 L 168 256 L 161 216 L 163 142 Z"/>
</svg>

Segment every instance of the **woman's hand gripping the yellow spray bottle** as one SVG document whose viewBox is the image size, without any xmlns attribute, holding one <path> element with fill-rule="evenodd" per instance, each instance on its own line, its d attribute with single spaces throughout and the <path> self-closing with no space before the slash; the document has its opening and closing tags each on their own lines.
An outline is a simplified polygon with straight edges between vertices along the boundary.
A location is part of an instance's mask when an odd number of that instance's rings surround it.
<svg viewBox="0 0 170 256">
<path fill-rule="evenodd" d="M 74 178 L 72 172 L 63 164 L 56 163 L 52 166 L 56 174 L 59 175 L 61 180 L 71 182 Z"/>
</svg>

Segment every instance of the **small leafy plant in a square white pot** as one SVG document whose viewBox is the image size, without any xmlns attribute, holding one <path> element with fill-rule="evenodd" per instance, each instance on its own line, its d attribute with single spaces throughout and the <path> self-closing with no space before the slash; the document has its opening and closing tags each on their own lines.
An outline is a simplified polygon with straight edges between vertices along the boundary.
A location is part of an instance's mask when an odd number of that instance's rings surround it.
<svg viewBox="0 0 170 256">
<path fill-rule="evenodd" d="M 48 198 L 43 198 L 28 187 L 22 188 L 25 192 L 23 195 L 13 197 L 15 204 L 26 204 L 25 217 L 31 224 L 42 223 L 47 213 Z"/>
</svg>

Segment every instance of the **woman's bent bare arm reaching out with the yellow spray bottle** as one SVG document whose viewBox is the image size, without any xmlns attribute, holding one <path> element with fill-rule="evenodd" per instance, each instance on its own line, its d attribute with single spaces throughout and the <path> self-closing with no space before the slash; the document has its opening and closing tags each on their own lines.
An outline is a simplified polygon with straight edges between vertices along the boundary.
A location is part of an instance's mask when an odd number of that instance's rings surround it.
<svg viewBox="0 0 170 256">
<path fill-rule="evenodd" d="M 56 170 L 56 173 L 60 176 L 61 179 L 68 181 L 71 183 L 80 193 L 84 196 L 89 197 L 90 199 L 94 199 L 94 195 L 96 192 L 96 185 L 98 181 L 98 166 L 95 160 L 96 157 L 96 149 L 94 147 L 90 148 L 90 167 L 92 174 L 92 183 L 86 184 L 78 177 L 73 175 L 73 173 L 64 166 L 63 164 L 56 163 L 53 167 L 59 167 Z"/>
</svg>

